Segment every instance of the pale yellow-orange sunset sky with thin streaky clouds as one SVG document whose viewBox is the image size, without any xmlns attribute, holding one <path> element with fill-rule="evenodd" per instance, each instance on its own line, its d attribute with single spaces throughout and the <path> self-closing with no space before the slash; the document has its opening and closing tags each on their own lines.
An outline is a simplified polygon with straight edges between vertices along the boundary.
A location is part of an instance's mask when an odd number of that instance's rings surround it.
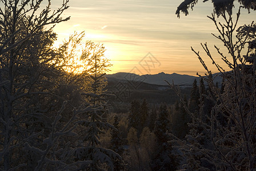
<svg viewBox="0 0 256 171">
<path fill-rule="evenodd" d="M 201 51 L 201 54 L 204 54 L 201 42 L 207 42 L 213 54 L 216 54 L 214 44 L 223 48 L 221 42 L 211 35 L 211 32 L 216 33 L 216 29 L 206 17 L 213 12 L 213 4 L 210 1 L 199 2 L 188 16 L 181 15 L 181 18 L 177 18 L 175 11 L 181 2 L 182 0 L 71 0 L 69 9 L 63 15 L 71 16 L 71 19 L 59 23 L 54 31 L 58 34 L 59 42 L 69 38 L 74 31 L 85 31 L 85 40 L 103 43 L 107 49 L 106 56 L 113 64 L 110 74 L 203 74 L 203 67 L 190 46 Z M 57 1 L 52 5 L 53 9 L 59 6 Z M 234 12 L 237 9 L 238 6 Z M 247 14 L 247 10 L 242 10 L 240 25 L 250 24 L 254 17 L 255 12 Z M 206 55 L 203 56 L 211 70 L 216 72 Z M 154 64 L 150 64 L 150 58 L 154 60 Z M 215 59 L 221 63 L 218 55 L 215 55 Z"/>
</svg>

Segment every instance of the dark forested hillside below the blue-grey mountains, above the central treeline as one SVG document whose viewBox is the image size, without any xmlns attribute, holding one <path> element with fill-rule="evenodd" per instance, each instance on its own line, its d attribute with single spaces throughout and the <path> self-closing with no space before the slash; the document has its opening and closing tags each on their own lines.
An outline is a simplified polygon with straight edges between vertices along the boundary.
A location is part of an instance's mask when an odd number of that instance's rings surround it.
<svg viewBox="0 0 256 171">
<path fill-rule="evenodd" d="M 179 100 L 179 97 L 167 85 L 149 84 L 145 82 L 136 82 L 134 80 L 124 80 L 107 78 L 107 92 L 114 94 L 109 102 L 117 113 L 129 112 L 130 103 L 134 99 L 146 99 L 150 107 L 158 106 L 160 104 L 174 104 Z M 191 86 L 181 88 L 182 96 L 190 97 Z"/>
</svg>

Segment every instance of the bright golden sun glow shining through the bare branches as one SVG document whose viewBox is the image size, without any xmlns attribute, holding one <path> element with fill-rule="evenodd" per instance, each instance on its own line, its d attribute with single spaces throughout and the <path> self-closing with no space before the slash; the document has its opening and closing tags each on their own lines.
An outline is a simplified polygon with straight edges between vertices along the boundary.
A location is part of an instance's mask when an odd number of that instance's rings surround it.
<svg viewBox="0 0 256 171">
<path fill-rule="evenodd" d="M 73 74 L 82 74 L 83 72 L 91 74 L 97 65 L 97 73 L 109 71 L 108 67 L 111 64 L 105 56 L 106 49 L 103 44 L 94 43 L 91 40 L 84 42 L 84 35 L 83 32 L 75 33 L 62 44 L 54 45 L 55 49 L 62 54 L 63 70 Z"/>
</svg>

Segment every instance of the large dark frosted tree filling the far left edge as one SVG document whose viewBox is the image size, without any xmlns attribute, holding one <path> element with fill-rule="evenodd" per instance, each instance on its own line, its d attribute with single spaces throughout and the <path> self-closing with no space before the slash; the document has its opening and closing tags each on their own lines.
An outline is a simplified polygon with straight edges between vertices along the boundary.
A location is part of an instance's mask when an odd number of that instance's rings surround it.
<svg viewBox="0 0 256 171">
<path fill-rule="evenodd" d="M 61 17 L 67 2 L 51 11 L 50 0 L 45 7 L 43 1 L 0 1 L 0 170 L 61 170 L 77 164 L 70 163 L 68 140 L 62 146 L 63 137 L 75 136 L 77 117 L 74 109 L 63 120 L 71 105 L 58 93 L 65 59 L 52 48 L 54 25 L 69 20 Z"/>
</svg>

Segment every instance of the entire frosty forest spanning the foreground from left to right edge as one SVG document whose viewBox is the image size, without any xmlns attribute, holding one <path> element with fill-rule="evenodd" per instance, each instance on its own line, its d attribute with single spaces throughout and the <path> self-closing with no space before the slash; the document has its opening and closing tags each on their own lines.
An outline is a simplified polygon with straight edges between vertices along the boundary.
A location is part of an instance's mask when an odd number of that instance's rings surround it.
<svg viewBox="0 0 256 171">
<path fill-rule="evenodd" d="M 175 99 L 136 93 L 122 109 L 110 103 L 103 44 L 74 32 L 54 46 L 69 0 L 57 10 L 50 0 L 1 0 L 0 170 L 255 170 L 256 25 L 237 23 L 256 1 L 239 0 L 238 11 L 234 0 L 211 2 L 213 36 L 226 48 L 215 50 L 230 70 L 201 46 L 222 83 L 191 47 L 205 68 L 199 82 L 165 80 Z M 197 3 L 183 1 L 177 17 Z"/>
</svg>

